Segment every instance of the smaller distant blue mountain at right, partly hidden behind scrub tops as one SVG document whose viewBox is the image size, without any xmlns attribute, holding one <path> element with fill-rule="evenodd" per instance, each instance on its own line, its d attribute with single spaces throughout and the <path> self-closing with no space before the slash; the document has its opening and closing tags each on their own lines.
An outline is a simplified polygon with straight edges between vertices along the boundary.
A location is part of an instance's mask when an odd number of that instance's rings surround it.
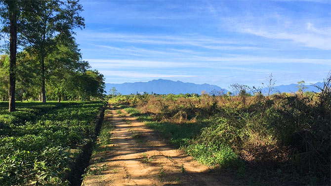
<svg viewBox="0 0 331 186">
<path fill-rule="evenodd" d="M 323 82 L 317 82 L 315 83 L 315 85 L 323 88 Z M 289 85 L 279 85 L 279 86 L 275 86 L 273 91 L 271 92 L 271 94 L 277 93 L 277 92 L 296 92 L 298 91 L 298 87 L 296 87 L 297 84 L 289 84 Z M 313 92 L 320 92 L 320 90 L 316 87 L 314 87 L 313 85 L 309 84 L 306 85 L 307 89 L 305 89 L 305 91 L 313 91 Z M 262 89 L 262 93 L 266 94 L 268 93 L 268 88 L 263 88 Z"/>
</svg>

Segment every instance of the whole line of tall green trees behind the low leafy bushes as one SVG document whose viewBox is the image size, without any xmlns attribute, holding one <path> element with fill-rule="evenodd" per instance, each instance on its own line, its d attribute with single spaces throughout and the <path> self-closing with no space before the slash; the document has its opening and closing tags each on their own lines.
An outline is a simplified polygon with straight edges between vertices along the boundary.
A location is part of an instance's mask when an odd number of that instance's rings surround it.
<svg viewBox="0 0 331 186">
<path fill-rule="evenodd" d="M 79 0 L 0 0 L 1 49 L 9 54 L 0 58 L 0 96 L 9 100 L 9 112 L 15 99 L 103 96 L 104 77 L 88 70 L 75 39 L 74 30 L 85 26 L 82 11 Z"/>
</svg>

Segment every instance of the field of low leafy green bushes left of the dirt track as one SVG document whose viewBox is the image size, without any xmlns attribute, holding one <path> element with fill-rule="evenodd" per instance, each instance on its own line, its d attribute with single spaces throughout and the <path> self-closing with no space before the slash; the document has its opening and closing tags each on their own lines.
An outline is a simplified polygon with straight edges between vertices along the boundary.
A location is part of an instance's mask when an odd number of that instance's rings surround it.
<svg viewBox="0 0 331 186">
<path fill-rule="evenodd" d="M 24 102 L 16 112 L 7 111 L 7 102 L 0 104 L 1 186 L 65 186 L 80 180 L 105 102 Z"/>
</svg>

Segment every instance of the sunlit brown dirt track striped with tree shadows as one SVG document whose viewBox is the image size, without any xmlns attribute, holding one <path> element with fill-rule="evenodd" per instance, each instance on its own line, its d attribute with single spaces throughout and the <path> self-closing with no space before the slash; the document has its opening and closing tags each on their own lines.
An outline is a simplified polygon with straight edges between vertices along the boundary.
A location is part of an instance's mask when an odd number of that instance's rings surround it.
<svg viewBox="0 0 331 186">
<path fill-rule="evenodd" d="M 109 109 L 104 124 L 115 126 L 111 145 L 104 147 L 109 150 L 94 153 L 90 160 L 90 164 L 97 162 L 105 168 L 101 174 L 86 177 L 84 186 L 233 185 L 228 177 L 166 145 L 144 123 L 118 114 L 118 108 Z"/>
</svg>

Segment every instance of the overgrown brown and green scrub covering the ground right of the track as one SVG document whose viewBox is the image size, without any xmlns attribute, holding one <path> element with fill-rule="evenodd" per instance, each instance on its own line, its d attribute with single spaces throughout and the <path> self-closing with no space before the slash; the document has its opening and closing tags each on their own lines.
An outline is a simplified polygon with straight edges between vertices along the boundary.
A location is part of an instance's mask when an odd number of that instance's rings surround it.
<svg viewBox="0 0 331 186">
<path fill-rule="evenodd" d="M 272 80 L 269 87 L 272 89 Z M 113 96 L 200 162 L 249 185 L 330 185 L 331 76 L 321 92 Z M 270 93 L 270 92 L 269 92 Z"/>
</svg>

